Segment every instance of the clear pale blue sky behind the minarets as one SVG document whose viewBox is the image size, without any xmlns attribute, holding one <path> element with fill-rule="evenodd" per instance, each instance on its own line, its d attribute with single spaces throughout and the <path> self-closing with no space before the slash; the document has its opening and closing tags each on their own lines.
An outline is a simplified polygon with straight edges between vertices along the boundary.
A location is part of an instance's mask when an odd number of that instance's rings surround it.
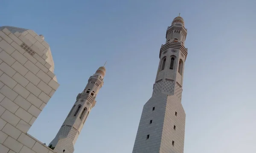
<svg viewBox="0 0 256 153">
<path fill-rule="evenodd" d="M 0 26 L 44 35 L 61 84 L 29 133 L 49 144 L 108 61 L 75 153 L 131 153 L 167 26 L 181 13 L 184 153 L 255 153 L 255 8 L 255 0 L 1 0 Z"/>
</svg>

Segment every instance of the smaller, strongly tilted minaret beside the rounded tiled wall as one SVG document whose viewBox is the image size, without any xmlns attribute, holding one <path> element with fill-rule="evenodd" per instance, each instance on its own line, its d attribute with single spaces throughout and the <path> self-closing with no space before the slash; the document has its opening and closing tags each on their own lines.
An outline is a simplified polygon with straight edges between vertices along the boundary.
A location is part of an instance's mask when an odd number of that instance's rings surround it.
<svg viewBox="0 0 256 153">
<path fill-rule="evenodd" d="M 90 110 L 95 106 L 95 98 L 103 85 L 105 72 L 105 65 L 99 67 L 96 73 L 90 76 L 84 91 L 77 95 L 76 102 L 70 110 L 70 113 L 67 115 L 67 118 L 55 138 L 49 144 L 49 147 L 54 147 L 57 153 L 74 152 L 76 139 L 84 126 L 84 122 Z"/>
</svg>

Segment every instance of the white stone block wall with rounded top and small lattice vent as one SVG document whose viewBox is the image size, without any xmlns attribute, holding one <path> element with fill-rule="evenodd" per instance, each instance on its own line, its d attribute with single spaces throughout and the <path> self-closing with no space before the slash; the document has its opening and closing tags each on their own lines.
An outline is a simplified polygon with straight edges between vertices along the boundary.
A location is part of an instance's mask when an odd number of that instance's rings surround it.
<svg viewBox="0 0 256 153">
<path fill-rule="evenodd" d="M 58 89 L 52 53 L 32 30 L 0 27 L 0 153 L 54 153 L 27 131 Z"/>
</svg>

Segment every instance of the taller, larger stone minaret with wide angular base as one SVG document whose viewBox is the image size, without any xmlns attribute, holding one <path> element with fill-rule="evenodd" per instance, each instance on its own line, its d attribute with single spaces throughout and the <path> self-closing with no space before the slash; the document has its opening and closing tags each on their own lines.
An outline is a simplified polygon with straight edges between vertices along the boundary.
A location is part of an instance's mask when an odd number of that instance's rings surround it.
<svg viewBox="0 0 256 153">
<path fill-rule="evenodd" d="M 144 105 L 132 153 L 183 153 L 186 114 L 181 104 L 187 29 L 178 16 L 161 46 L 152 97 Z"/>
</svg>

